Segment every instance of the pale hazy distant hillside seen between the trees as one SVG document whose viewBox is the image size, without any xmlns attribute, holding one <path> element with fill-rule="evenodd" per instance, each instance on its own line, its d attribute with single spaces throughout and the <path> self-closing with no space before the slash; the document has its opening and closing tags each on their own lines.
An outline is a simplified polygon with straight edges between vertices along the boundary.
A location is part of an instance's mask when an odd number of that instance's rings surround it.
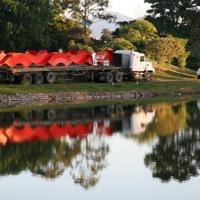
<svg viewBox="0 0 200 200">
<path fill-rule="evenodd" d="M 122 21 L 131 21 L 133 20 L 133 18 L 127 17 L 125 15 L 122 15 L 120 13 L 116 13 L 116 12 L 110 12 L 112 15 L 115 15 L 117 20 L 116 22 L 122 22 Z M 94 38 L 100 38 L 101 37 L 101 31 L 104 29 L 110 29 L 111 31 L 114 31 L 117 28 L 116 23 L 108 23 L 107 21 L 99 21 L 97 23 L 94 23 L 91 26 L 91 29 L 93 31 L 92 36 Z"/>
</svg>

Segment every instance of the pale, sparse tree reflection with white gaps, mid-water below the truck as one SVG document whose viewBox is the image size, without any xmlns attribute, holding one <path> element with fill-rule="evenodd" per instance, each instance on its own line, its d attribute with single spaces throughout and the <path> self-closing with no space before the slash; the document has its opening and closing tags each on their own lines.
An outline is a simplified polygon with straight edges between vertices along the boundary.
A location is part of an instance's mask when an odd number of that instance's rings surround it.
<svg viewBox="0 0 200 200">
<path fill-rule="evenodd" d="M 99 172 L 107 166 L 106 155 L 109 147 L 103 136 L 89 135 L 82 141 L 81 153 L 71 165 L 71 175 L 75 183 L 88 189 L 97 184 Z"/>
</svg>

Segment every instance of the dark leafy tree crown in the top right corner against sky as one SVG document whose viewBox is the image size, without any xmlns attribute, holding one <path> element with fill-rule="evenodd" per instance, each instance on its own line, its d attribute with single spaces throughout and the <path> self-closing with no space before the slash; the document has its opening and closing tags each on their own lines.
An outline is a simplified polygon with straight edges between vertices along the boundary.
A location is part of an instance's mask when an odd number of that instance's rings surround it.
<svg viewBox="0 0 200 200">
<path fill-rule="evenodd" d="M 192 25 L 199 22 L 199 0 L 145 0 L 151 4 L 147 19 L 162 33 L 187 35 Z"/>
</svg>

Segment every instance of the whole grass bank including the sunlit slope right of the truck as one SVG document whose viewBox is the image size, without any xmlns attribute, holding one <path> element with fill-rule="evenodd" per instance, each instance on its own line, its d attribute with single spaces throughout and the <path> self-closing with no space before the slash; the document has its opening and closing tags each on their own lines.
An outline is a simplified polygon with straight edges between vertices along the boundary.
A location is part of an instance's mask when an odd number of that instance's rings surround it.
<svg viewBox="0 0 200 200">
<path fill-rule="evenodd" d="M 195 71 L 180 69 L 170 65 L 156 66 L 156 74 L 152 82 L 123 82 L 118 84 L 67 82 L 54 85 L 0 85 L 0 94 L 36 94 L 36 93 L 95 93 L 138 91 L 156 94 L 200 93 L 200 81 Z"/>
</svg>

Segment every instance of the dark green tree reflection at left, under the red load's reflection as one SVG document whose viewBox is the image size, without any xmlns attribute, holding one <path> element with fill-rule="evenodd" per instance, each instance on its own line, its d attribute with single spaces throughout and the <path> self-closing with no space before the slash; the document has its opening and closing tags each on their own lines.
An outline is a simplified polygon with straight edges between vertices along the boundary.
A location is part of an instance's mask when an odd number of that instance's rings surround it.
<svg viewBox="0 0 200 200">
<path fill-rule="evenodd" d="M 70 166 L 80 153 L 80 143 L 70 147 L 66 141 L 7 144 L 0 148 L 0 175 L 31 171 L 34 175 L 54 179 Z"/>
</svg>

